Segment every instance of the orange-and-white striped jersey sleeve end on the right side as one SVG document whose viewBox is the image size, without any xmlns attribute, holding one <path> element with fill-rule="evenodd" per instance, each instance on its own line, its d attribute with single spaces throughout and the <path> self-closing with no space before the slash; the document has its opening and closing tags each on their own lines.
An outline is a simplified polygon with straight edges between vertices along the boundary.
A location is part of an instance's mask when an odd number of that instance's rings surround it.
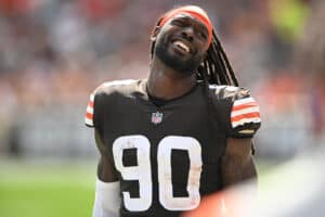
<svg viewBox="0 0 325 217">
<path fill-rule="evenodd" d="M 235 138 L 251 138 L 260 128 L 260 107 L 250 94 L 233 101 L 230 124 L 230 136 Z"/>
</svg>

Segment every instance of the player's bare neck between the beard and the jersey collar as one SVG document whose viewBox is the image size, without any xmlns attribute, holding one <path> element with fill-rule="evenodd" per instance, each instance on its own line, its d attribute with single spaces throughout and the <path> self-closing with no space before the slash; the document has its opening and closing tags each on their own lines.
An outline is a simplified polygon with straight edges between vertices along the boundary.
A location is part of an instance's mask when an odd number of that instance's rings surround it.
<svg viewBox="0 0 325 217">
<path fill-rule="evenodd" d="M 147 91 L 160 99 L 174 99 L 192 90 L 196 84 L 196 75 L 184 75 L 165 65 L 154 58 L 147 80 Z"/>
</svg>

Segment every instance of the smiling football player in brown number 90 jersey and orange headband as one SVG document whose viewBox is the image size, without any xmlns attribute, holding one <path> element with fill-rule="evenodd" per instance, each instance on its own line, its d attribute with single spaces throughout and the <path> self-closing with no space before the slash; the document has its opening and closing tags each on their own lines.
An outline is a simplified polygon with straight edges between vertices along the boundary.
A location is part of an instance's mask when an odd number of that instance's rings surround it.
<svg viewBox="0 0 325 217">
<path fill-rule="evenodd" d="M 168 11 L 151 36 L 147 79 L 104 82 L 90 97 L 101 158 L 93 217 L 173 217 L 204 195 L 255 178 L 257 102 L 237 87 L 207 13 Z"/>
</svg>

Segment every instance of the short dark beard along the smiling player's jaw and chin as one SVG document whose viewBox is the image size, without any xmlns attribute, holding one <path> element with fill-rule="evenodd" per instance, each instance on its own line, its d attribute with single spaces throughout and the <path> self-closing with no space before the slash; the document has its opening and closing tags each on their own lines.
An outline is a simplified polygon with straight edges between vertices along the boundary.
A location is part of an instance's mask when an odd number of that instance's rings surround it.
<svg viewBox="0 0 325 217">
<path fill-rule="evenodd" d="M 182 75 L 193 75 L 202 63 L 202 56 L 192 54 L 192 58 L 184 60 L 181 55 L 168 51 L 168 41 L 158 42 L 155 46 L 155 54 L 169 67 L 180 72 Z"/>
</svg>

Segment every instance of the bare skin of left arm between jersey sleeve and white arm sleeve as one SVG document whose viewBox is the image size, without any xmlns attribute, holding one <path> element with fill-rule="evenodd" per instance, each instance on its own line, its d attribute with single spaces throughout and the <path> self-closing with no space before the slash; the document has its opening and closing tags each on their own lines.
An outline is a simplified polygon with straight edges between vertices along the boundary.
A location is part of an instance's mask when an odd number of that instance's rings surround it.
<svg viewBox="0 0 325 217">
<path fill-rule="evenodd" d="M 112 157 L 107 154 L 106 146 L 104 145 L 104 142 L 98 132 L 98 130 L 94 130 L 94 137 L 95 137 L 95 142 L 98 150 L 100 151 L 101 158 L 99 161 L 98 165 L 98 177 L 102 181 L 105 182 L 113 182 L 117 181 L 117 174 L 115 170 L 115 167 L 113 165 L 113 159 Z"/>
</svg>

